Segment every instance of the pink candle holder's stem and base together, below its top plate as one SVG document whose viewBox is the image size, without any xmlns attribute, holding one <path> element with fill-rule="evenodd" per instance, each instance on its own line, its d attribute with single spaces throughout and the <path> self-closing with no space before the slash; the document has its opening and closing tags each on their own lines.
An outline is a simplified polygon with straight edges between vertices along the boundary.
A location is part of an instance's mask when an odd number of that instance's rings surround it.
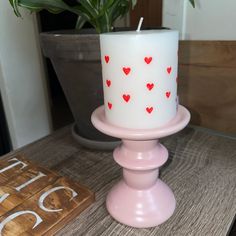
<svg viewBox="0 0 236 236">
<path fill-rule="evenodd" d="M 159 167 L 168 158 L 158 140 L 123 140 L 114 151 L 123 167 L 123 180 L 107 196 L 109 213 L 121 223 L 146 228 L 163 223 L 174 212 L 171 189 L 158 178 Z"/>
</svg>

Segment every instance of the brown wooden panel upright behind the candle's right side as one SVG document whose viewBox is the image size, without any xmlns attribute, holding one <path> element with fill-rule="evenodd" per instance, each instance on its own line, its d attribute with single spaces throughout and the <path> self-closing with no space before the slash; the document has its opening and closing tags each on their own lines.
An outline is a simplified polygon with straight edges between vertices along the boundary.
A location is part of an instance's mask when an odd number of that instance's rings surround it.
<svg viewBox="0 0 236 236">
<path fill-rule="evenodd" d="M 236 134 L 236 41 L 181 41 L 180 103 L 192 124 Z"/>
</svg>

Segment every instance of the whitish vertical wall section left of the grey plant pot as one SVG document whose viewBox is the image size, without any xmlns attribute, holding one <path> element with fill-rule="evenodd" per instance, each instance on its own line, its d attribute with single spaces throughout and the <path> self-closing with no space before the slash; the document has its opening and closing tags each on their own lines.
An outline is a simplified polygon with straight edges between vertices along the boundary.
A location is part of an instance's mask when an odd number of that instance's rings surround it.
<svg viewBox="0 0 236 236">
<path fill-rule="evenodd" d="M 14 149 L 51 130 L 36 20 L 22 13 L 0 1 L 0 90 Z"/>
</svg>

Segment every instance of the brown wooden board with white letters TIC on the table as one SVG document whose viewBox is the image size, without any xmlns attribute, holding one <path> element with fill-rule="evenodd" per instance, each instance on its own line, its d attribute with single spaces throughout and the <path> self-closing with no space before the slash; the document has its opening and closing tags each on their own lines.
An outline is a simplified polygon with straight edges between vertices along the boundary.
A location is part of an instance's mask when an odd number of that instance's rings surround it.
<svg viewBox="0 0 236 236">
<path fill-rule="evenodd" d="M 93 201 L 87 187 L 22 156 L 0 160 L 0 235 L 54 235 Z"/>
</svg>

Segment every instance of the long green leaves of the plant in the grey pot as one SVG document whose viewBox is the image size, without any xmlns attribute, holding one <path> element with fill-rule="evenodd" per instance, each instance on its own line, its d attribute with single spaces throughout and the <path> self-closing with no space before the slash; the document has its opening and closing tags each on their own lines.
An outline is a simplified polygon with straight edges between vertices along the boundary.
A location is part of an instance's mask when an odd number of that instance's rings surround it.
<svg viewBox="0 0 236 236">
<path fill-rule="evenodd" d="M 19 7 L 32 12 L 43 9 L 57 14 L 70 11 L 78 15 L 76 28 L 80 29 L 88 21 L 98 33 L 109 32 L 114 21 L 123 17 L 132 9 L 137 0 L 77 0 L 78 4 L 70 6 L 64 0 L 9 0 L 14 12 L 20 16 Z"/>
</svg>

